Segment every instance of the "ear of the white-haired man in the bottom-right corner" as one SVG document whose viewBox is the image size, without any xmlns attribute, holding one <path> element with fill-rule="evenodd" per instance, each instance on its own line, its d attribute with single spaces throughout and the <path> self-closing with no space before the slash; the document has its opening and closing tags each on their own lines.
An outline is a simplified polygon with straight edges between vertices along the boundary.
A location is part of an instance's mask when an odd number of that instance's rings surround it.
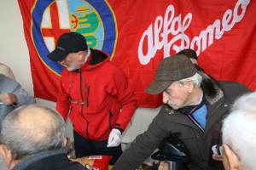
<svg viewBox="0 0 256 170">
<path fill-rule="evenodd" d="M 236 156 L 236 154 L 233 152 L 233 150 L 230 149 L 230 147 L 227 144 L 222 144 L 223 146 L 223 155 L 227 159 L 227 164 L 229 165 L 230 170 L 236 170 L 239 168 L 239 159 Z"/>
</svg>

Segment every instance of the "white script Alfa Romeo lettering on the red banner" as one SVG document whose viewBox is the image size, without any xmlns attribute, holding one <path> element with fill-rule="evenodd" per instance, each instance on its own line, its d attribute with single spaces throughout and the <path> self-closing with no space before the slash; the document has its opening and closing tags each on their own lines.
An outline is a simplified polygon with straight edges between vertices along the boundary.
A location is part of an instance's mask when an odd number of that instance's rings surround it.
<svg viewBox="0 0 256 170">
<path fill-rule="evenodd" d="M 212 25 L 207 26 L 206 30 L 201 31 L 199 37 L 193 37 L 191 42 L 185 31 L 192 21 L 192 14 L 187 14 L 183 20 L 181 14 L 174 17 L 175 9 L 172 5 L 169 5 L 164 18 L 157 16 L 154 26 L 151 24 L 143 33 L 137 51 L 140 63 L 147 65 L 150 59 L 154 58 L 157 51 L 162 48 L 164 57 L 170 56 L 171 49 L 178 52 L 183 48 L 196 49 L 196 53 L 199 55 L 212 45 L 214 37 L 220 39 L 224 31 L 230 31 L 237 22 L 242 20 L 248 3 L 250 3 L 250 0 L 239 0 L 233 11 L 228 9 L 224 13 L 222 20 L 215 20 Z M 170 34 L 173 37 L 169 41 Z M 179 46 L 174 44 L 177 41 L 180 42 Z M 143 47 L 147 47 L 145 54 L 143 53 Z"/>
</svg>

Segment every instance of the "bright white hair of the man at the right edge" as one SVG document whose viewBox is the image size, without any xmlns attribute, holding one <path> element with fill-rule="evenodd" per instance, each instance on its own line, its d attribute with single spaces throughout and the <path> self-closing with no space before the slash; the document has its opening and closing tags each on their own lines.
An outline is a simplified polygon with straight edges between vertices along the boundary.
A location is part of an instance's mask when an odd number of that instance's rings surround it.
<svg viewBox="0 0 256 170">
<path fill-rule="evenodd" d="M 224 119 L 223 143 L 228 144 L 243 167 L 256 167 L 256 93 L 242 95 Z"/>
</svg>

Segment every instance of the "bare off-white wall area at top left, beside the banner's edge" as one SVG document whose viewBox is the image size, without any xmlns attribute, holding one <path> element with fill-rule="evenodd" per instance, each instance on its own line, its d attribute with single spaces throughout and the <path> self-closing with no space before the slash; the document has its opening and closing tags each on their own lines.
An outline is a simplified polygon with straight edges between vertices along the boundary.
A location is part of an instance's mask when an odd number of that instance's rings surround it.
<svg viewBox="0 0 256 170">
<path fill-rule="evenodd" d="M 33 94 L 28 49 L 16 0 L 0 0 L 0 23 L 0 62 L 9 65 L 16 80 Z"/>
</svg>

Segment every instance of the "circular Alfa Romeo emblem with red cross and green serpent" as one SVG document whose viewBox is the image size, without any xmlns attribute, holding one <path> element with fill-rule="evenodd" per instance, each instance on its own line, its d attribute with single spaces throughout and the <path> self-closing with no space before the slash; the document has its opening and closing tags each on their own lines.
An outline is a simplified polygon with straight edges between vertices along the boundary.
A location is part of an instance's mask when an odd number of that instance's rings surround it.
<svg viewBox="0 0 256 170">
<path fill-rule="evenodd" d="M 113 56 L 117 39 L 113 10 L 104 0 L 38 0 L 32 8 L 31 31 L 38 56 L 57 75 L 65 67 L 46 56 L 62 33 L 79 32 L 88 47 L 105 51 L 109 56 Z"/>
</svg>

